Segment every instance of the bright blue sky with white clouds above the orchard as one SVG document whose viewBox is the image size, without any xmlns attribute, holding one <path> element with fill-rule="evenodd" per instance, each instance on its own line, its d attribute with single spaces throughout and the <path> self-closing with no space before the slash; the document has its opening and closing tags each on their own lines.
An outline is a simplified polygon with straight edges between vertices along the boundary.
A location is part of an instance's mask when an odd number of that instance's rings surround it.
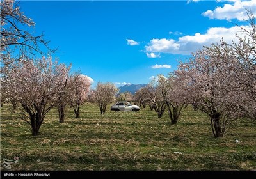
<svg viewBox="0 0 256 179">
<path fill-rule="evenodd" d="M 97 82 L 147 84 L 221 37 L 235 39 L 252 1 L 21 1 L 60 63 Z"/>
</svg>

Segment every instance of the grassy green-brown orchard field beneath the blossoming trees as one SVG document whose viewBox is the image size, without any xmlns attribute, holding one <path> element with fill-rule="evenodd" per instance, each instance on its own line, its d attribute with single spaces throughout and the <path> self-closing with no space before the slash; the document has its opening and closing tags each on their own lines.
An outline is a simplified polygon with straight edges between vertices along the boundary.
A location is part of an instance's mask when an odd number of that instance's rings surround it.
<svg viewBox="0 0 256 179">
<path fill-rule="evenodd" d="M 68 108 L 66 123 L 50 111 L 32 136 L 28 125 L 1 109 L 3 158 L 19 157 L 10 170 L 256 170 L 256 125 L 239 120 L 223 138 L 212 136 L 204 113 L 184 109 L 177 125 L 167 111 L 158 119 L 149 107 L 100 115 L 85 104 L 81 118 Z M 239 142 L 236 142 L 238 140 Z"/>
</svg>

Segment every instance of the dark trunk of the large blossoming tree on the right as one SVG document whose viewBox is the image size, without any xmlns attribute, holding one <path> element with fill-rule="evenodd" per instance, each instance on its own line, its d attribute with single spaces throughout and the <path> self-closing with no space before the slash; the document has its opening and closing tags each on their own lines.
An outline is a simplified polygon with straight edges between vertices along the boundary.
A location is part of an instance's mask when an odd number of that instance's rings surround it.
<svg viewBox="0 0 256 179">
<path fill-rule="evenodd" d="M 214 113 L 211 117 L 212 134 L 214 137 L 223 137 L 224 132 L 221 128 L 220 113 Z"/>
</svg>

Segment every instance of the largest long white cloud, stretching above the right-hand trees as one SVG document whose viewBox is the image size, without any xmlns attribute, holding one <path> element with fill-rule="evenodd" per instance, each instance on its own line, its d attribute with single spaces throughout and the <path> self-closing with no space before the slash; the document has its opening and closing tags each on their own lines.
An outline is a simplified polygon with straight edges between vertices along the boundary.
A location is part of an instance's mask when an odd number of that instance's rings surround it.
<svg viewBox="0 0 256 179">
<path fill-rule="evenodd" d="M 248 26 L 244 28 L 249 29 Z M 195 35 L 181 36 L 179 40 L 154 38 L 150 43 L 145 46 L 147 53 L 169 53 L 169 54 L 191 54 L 202 47 L 209 46 L 211 43 L 216 43 L 221 38 L 224 38 L 228 43 L 232 40 L 237 40 L 237 35 L 245 36 L 245 33 L 241 33 L 241 29 L 237 26 L 231 28 L 225 27 L 212 27 L 208 29 L 207 33 L 195 33 Z"/>
</svg>

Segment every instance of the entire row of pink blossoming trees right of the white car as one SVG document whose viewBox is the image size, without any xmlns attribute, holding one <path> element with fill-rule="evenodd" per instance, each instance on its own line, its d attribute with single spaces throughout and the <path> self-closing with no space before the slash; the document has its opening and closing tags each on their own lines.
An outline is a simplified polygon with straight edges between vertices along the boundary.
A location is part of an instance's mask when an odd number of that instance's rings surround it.
<svg viewBox="0 0 256 179">
<path fill-rule="evenodd" d="M 250 27 L 231 44 L 224 39 L 192 54 L 168 77 L 159 75 L 134 95 L 134 101 L 150 105 L 161 118 L 165 109 L 172 124 L 182 108 L 192 104 L 211 119 L 212 134 L 223 137 L 237 118 L 256 121 L 256 26 L 248 11 Z"/>
</svg>

